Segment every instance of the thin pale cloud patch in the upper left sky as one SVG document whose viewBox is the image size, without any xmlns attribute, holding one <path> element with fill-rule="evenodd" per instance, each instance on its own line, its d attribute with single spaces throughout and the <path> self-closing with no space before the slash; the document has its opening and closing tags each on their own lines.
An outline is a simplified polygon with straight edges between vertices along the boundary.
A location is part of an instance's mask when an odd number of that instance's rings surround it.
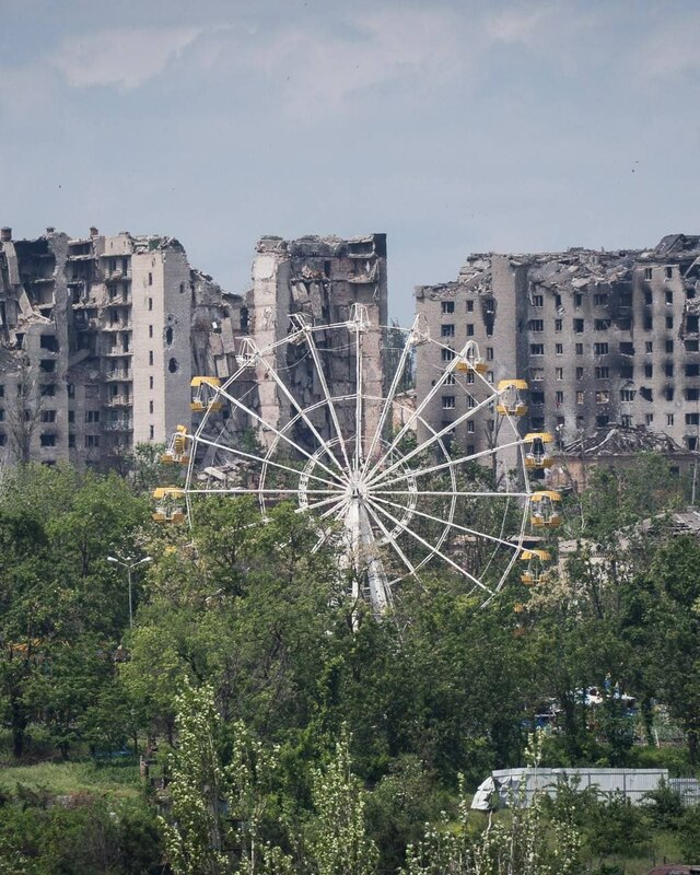
<svg viewBox="0 0 700 875">
<path fill-rule="evenodd" d="M 73 88 L 135 89 L 162 72 L 202 33 L 198 27 L 125 27 L 65 39 L 50 62 Z"/>
</svg>

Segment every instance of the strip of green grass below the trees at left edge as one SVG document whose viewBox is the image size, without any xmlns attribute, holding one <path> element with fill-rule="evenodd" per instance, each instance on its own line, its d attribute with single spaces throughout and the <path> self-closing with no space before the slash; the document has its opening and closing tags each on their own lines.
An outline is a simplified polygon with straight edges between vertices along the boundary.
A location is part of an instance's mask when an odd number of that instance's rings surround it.
<svg viewBox="0 0 700 875">
<path fill-rule="evenodd" d="M 92 760 L 3 767 L 0 789 L 12 797 L 18 789 L 47 797 L 89 793 L 127 800 L 141 793 L 138 766 L 103 766 Z"/>
</svg>

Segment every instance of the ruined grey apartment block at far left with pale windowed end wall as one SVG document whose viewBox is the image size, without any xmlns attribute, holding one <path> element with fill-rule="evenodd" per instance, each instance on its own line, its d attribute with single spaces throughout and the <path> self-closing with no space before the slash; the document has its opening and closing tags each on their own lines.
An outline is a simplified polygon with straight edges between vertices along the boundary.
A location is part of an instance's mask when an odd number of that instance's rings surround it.
<svg viewBox="0 0 700 875">
<path fill-rule="evenodd" d="M 242 311 L 172 237 L 2 229 L 2 457 L 108 467 L 167 440 L 192 373 L 228 373 Z"/>
</svg>

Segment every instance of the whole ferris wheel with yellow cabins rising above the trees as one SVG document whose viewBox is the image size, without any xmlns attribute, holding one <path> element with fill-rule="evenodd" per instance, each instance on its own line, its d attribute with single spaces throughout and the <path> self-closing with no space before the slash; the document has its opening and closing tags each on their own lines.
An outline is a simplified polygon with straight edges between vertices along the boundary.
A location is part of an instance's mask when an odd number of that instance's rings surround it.
<svg viewBox="0 0 700 875">
<path fill-rule="evenodd" d="M 422 345 L 440 349 L 441 366 L 416 401 L 401 389 Z M 376 362 L 388 352 L 383 383 Z M 291 501 L 313 515 L 316 549 L 336 546 L 352 595 L 375 614 L 392 606 L 400 581 L 431 572 L 458 575 L 488 603 L 527 559 L 528 525 L 560 520 L 559 497 L 530 486 L 551 465 L 552 439 L 518 431 L 527 385 L 494 385 L 472 341 L 452 350 L 421 317 L 408 329 L 372 326 L 354 304 L 335 324 L 293 314 L 288 335 L 265 348 L 240 338 L 236 364 L 225 380 L 192 380 L 199 422 L 191 433 L 180 427 L 163 457 L 186 464 L 185 483 L 156 491 L 154 518 L 187 512 L 191 521 L 211 495 L 254 497 L 264 518 Z M 438 424 L 445 390 L 454 415 Z M 460 446 L 463 425 L 483 428 L 486 446 Z"/>
</svg>

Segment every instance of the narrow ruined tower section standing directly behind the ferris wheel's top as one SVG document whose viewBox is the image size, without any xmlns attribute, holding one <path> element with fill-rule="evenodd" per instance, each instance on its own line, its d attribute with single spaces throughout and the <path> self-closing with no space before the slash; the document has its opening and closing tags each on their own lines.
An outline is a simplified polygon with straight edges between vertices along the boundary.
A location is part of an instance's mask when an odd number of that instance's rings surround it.
<svg viewBox="0 0 700 875">
<path fill-rule="evenodd" d="M 303 314 L 312 325 L 342 324 L 339 328 L 314 332 L 330 394 L 339 398 L 354 393 L 355 386 L 354 350 L 345 325 L 352 318 L 353 304 L 366 307 L 369 325 L 375 329 L 363 336 L 363 382 L 370 398 L 381 397 L 385 366 L 382 332 L 376 329 L 387 325 L 386 235 L 350 240 L 305 236 L 294 241 L 267 236 L 258 241 L 253 288 L 245 295 L 250 337 L 259 349 L 283 339 L 290 331 L 291 314 Z M 305 345 L 282 343 L 275 364 L 284 374 L 301 407 L 311 407 L 324 398 Z M 264 370 L 259 365 L 256 374 L 257 412 L 279 428 L 289 422 L 295 410 L 281 397 L 273 381 L 265 380 Z M 354 402 L 339 400 L 335 406 L 343 432 L 353 433 Z M 377 405 L 366 402 L 365 423 L 370 433 L 378 419 L 376 408 Z M 324 436 L 335 436 L 326 405 L 310 416 Z M 259 440 L 269 440 L 270 432 L 257 431 Z M 299 423 L 298 432 L 296 438 L 303 443 L 303 423 Z"/>
</svg>

